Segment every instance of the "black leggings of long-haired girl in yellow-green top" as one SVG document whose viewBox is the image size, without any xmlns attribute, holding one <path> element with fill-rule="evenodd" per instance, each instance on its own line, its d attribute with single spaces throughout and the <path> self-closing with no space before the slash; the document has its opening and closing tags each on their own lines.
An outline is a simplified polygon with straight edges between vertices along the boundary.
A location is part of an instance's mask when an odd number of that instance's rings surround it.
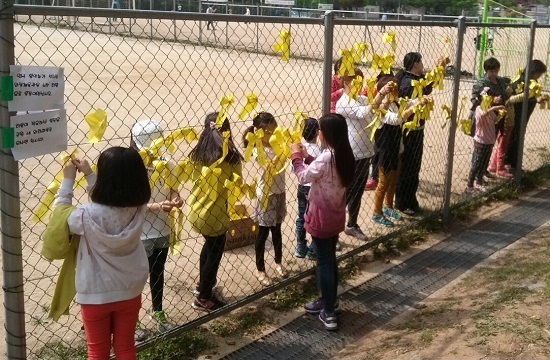
<svg viewBox="0 0 550 360">
<path fill-rule="evenodd" d="M 202 246 L 200 257 L 199 297 L 201 299 L 210 299 L 223 256 L 225 234 L 219 236 L 203 236 L 205 241 Z"/>
</svg>

